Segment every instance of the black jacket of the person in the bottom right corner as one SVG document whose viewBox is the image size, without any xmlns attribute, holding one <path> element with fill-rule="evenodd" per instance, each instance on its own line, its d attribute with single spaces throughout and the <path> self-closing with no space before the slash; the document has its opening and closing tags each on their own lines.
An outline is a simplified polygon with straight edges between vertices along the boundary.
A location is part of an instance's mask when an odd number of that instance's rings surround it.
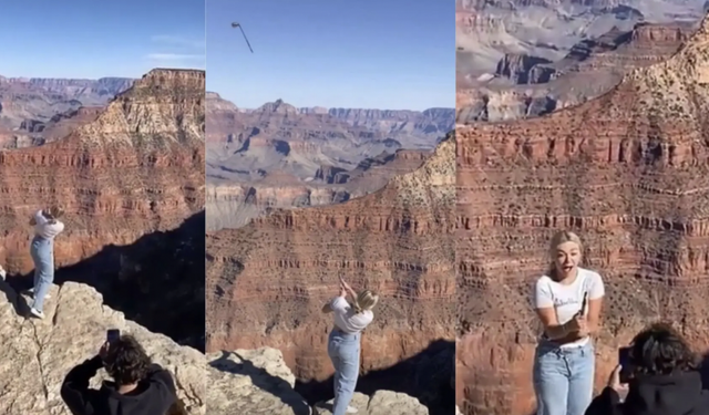
<svg viewBox="0 0 709 415">
<path fill-rule="evenodd" d="M 709 415 L 709 391 L 701 390 L 699 372 L 640 376 L 630 382 L 624 403 L 606 387 L 586 415 Z"/>
</svg>

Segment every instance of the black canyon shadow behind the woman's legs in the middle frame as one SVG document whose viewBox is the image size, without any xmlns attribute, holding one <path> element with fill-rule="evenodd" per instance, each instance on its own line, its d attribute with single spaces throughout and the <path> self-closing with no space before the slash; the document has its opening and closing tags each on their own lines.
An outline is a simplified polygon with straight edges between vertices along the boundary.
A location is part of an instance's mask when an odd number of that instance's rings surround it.
<svg viewBox="0 0 709 415">
<path fill-rule="evenodd" d="M 455 413 L 455 391 L 453 388 L 453 362 L 455 342 L 436 340 L 419 354 L 398 364 L 361 373 L 356 392 L 372 395 L 388 390 L 413 396 L 429 408 L 430 415 Z M 332 376 L 326 381 L 296 383 L 296 392 L 308 404 L 329 401 L 335 397 Z"/>
</svg>

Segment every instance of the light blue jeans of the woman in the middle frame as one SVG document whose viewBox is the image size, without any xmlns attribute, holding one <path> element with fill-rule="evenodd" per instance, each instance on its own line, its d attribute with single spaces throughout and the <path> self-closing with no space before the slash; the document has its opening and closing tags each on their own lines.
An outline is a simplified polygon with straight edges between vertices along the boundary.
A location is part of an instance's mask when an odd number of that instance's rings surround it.
<svg viewBox="0 0 709 415">
<path fill-rule="evenodd" d="M 335 366 L 335 403 L 332 415 L 345 415 L 354 395 L 359 376 L 361 334 L 348 334 L 335 329 L 328 340 L 328 355 Z"/>
</svg>

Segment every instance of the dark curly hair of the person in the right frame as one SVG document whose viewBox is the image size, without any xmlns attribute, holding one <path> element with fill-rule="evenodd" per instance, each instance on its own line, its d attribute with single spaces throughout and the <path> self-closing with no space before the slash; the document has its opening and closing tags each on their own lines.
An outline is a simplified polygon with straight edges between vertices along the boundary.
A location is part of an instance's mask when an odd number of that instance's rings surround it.
<svg viewBox="0 0 709 415">
<path fill-rule="evenodd" d="M 629 361 L 633 372 L 666 375 L 698 367 L 698 356 L 689 343 L 668 323 L 654 323 L 633 339 Z"/>
</svg>

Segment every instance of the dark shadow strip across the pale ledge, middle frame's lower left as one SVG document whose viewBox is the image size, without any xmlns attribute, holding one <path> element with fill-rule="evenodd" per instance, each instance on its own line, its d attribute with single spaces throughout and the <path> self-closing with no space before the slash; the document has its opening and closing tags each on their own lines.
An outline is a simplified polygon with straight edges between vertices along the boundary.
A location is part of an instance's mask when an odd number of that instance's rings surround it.
<svg viewBox="0 0 709 415">
<path fill-rule="evenodd" d="M 229 355 L 235 355 L 240 362 L 234 362 L 229 360 Z M 248 359 L 239 355 L 235 352 L 222 352 L 222 356 L 215 361 L 209 362 L 209 365 L 216 370 L 238 374 L 243 376 L 249 376 L 254 386 L 261 391 L 269 393 L 280 400 L 284 405 L 290 406 L 296 415 L 309 415 L 311 408 L 306 404 L 300 396 L 296 394 L 290 384 L 268 373 L 265 369 L 254 365 Z"/>
</svg>

